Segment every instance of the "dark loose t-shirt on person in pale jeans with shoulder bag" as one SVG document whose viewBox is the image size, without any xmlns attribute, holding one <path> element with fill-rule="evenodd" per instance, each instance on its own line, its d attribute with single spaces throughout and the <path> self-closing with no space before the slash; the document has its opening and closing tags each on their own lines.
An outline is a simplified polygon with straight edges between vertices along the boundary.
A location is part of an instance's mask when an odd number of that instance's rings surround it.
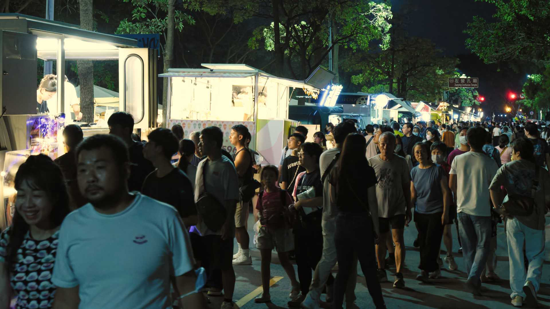
<svg viewBox="0 0 550 309">
<path fill-rule="evenodd" d="M 498 169 L 489 189 L 499 191 L 500 186 L 504 186 L 509 196 L 532 197 L 531 186 L 534 178 L 535 164 L 527 160 L 511 161 Z M 538 186 L 535 192 L 537 207 L 533 210 L 531 216 L 515 216 L 519 222 L 531 229 L 544 230 L 544 214 L 546 213 L 545 194 L 550 194 L 550 176 L 546 169 L 539 167 Z"/>
</svg>

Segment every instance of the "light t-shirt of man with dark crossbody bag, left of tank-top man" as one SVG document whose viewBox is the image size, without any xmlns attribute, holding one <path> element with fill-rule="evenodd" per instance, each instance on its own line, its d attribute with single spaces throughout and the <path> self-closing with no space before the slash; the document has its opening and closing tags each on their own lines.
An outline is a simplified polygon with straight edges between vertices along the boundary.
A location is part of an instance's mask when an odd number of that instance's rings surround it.
<svg viewBox="0 0 550 309">
<path fill-rule="evenodd" d="M 199 199 L 202 192 L 204 192 L 204 183 L 206 183 L 206 192 L 212 194 L 223 205 L 226 205 L 226 201 L 235 200 L 239 201 L 239 176 L 237 175 L 237 169 L 233 162 L 226 156 L 222 156 L 217 161 L 208 161 L 206 167 L 206 181 L 203 181 L 202 169 L 208 159 L 204 159 L 199 163 L 197 167 L 197 173 L 195 178 L 195 202 Z M 233 222 L 233 230 L 235 229 L 235 220 Z M 222 235 L 222 231 L 212 231 L 206 227 L 206 224 L 202 222 L 199 216 L 199 222 L 196 228 L 200 231 L 202 236 L 205 235 Z"/>
</svg>

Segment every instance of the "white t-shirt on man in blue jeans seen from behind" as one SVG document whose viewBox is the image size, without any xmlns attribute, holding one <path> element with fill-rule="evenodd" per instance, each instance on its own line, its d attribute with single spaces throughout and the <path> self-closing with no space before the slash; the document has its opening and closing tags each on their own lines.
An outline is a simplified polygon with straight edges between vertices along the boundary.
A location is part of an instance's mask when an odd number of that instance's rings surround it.
<svg viewBox="0 0 550 309">
<path fill-rule="evenodd" d="M 489 185 L 498 165 L 483 152 L 466 152 L 454 157 L 449 174 L 456 175 L 456 212 L 491 216 Z"/>
</svg>

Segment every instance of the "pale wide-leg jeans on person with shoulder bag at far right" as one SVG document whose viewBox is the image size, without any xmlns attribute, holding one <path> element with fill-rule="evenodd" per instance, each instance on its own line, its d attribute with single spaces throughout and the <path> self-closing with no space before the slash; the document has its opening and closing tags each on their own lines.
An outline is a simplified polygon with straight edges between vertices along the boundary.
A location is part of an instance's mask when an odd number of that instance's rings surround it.
<svg viewBox="0 0 550 309">
<path fill-rule="evenodd" d="M 511 298 L 516 296 L 525 297 L 523 285 L 529 280 L 535 292 L 541 284 L 542 263 L 544 262 L 544 230 L 534 230 L 519 222 L 516 218 L 508 218 L 506 222 L 506 238 L 508 241 L 508 257 L 510 258 L 510 288 Z M 525 255 L 529 261 L 527 276 L 525 275 L 525 264 L 523 246 L 525 244 Z"/>
</svg>

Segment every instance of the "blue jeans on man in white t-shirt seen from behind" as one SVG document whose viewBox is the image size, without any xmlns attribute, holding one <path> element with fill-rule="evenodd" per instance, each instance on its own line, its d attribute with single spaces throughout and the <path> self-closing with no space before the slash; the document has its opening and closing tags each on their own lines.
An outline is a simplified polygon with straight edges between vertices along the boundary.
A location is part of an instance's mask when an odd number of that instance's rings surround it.
<svg viewBox="0 0 550 309">
<path fill-rule="evenodd" d="M 474 216 L 464 212 L 459 212 L 457 216 L 468 280 L 480 286 L 480 276 L 491 245 L 491 216 Z"/>
</svg>

